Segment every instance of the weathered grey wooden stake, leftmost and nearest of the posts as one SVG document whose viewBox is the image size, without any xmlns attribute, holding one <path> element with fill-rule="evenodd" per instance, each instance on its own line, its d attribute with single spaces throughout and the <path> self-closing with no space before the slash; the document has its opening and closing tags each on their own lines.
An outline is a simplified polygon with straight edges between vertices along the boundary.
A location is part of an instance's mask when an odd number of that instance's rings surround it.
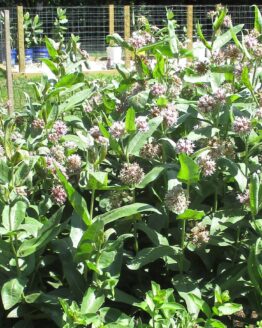
<svg viewBox="0 0 262 328">
<path fill-rule="evenodd" d="M 10 44 L 10 16 L 9 10 L 4 11 L 5 14 L 5 61 L 6 61 L 6 81 L 8 94 L 8 113 L 11 114 L 14 109 L 14 90 L 11 66 L 11 44 Z"/>
</svg>

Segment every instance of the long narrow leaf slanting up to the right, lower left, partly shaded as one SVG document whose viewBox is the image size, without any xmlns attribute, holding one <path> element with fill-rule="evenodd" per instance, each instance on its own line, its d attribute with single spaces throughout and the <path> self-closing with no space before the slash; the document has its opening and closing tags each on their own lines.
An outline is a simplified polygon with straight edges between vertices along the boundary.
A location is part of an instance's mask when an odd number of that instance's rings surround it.
<svg viewBox="0 0 262 328">
<path fill-rule="evenodd" d="M 22 245 L 18 248 L 17 255 L 19 257 L 27 257 L 38 250 L 44 248 L 52 239 L 54 239 L 60 229 L 60 220 L 63 213 L 63 207 L 55 212 L 51 218 L 43 225 L 38 231 L 37 237 L 25 240 Z"/>
</svg>

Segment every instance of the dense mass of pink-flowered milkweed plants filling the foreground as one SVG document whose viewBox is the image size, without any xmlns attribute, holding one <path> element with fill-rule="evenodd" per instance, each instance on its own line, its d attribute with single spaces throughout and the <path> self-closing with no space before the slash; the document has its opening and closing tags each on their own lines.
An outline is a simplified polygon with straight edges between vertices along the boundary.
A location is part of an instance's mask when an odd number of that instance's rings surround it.
<svg viewBox="0 0 262 328">
<path fill-rule="evenodd" d="M 206 58 L 145 17 L 119 80 L 86 82 L 74 36 L 53 78 L 2 108 L 1 327 L 261 327 L 262 18 L 210 13 Z M 8 104 L 7 104 L 8 106 Z"/>
</svg>

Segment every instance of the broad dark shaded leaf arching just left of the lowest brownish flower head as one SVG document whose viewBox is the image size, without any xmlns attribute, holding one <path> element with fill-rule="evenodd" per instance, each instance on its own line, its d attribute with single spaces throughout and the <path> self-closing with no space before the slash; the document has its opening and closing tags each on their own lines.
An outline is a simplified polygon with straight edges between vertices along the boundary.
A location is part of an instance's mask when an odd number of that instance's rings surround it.
<svg viewBox="0 0 262 328">
<path fill-rule="evenodd" d="M 138 270 L 143 266 L 166 256 L 171 257 L 174 260 L 178 260 L 178 254 L 179 248 L 175 246 L 161 245 L 144 248 L 137 253 L 127 267 L 130 270 Z"/>
</svg>

